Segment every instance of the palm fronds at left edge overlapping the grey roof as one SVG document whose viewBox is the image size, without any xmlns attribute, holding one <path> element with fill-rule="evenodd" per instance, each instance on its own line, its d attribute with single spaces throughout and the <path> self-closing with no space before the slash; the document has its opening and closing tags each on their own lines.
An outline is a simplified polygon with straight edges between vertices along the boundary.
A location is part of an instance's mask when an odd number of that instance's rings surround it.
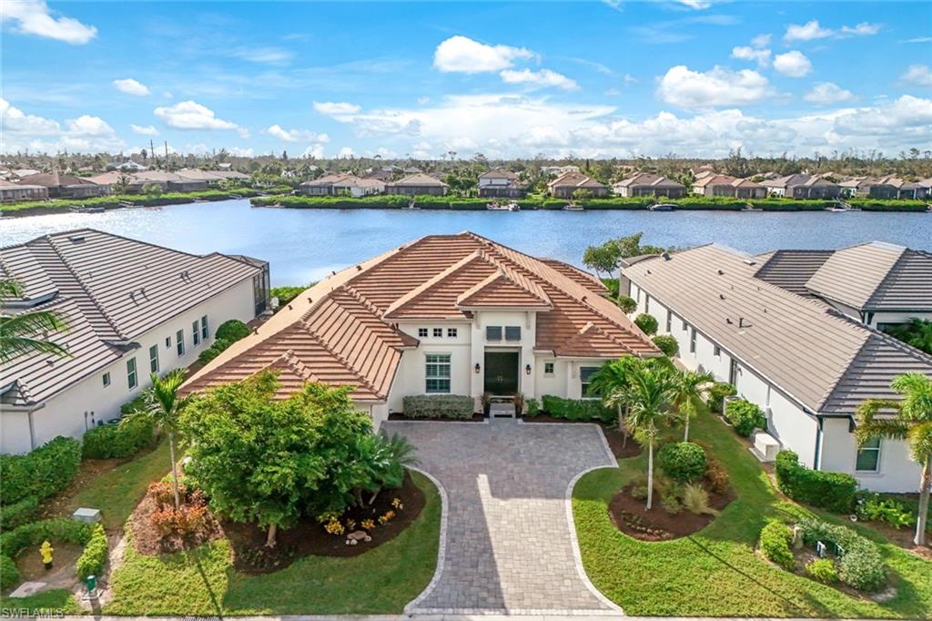
<svg viewBox="0 0 932 621">
<path fill-rule="evenodd" d="M 0 279 L 0 301 L 22 297 L 21 283 Z M 15 315 L 0 314 L 0 364 L 7 363 L 22 353 L 52 353 L 68 355 L 68 350 L 45 338 L 48 332 L 61 332 L 68 324 L 54 311 L 25 311 Z"/>
</svg>

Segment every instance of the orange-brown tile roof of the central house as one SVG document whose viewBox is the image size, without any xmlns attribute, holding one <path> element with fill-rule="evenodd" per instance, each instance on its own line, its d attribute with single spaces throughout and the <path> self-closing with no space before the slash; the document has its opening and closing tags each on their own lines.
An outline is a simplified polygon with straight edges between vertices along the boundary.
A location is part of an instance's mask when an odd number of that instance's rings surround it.
<svg viewBox="0 0 932 621">
<path fill-rule="evenodd" d="M 185 390 L 243 380 L 275 366 L 287 380 L 281 397 L 294 392 L 302 377 L 314 377 L 355 386 L 354 399 L 384 401 L 402 352 L 418 345 L 394 320 L 465 320 L 468 312 L 489 306 L 540 310 L 539 351 L 657 355 L 651 340 L 595 286 L 581 270 L 570 277 L 565 268 L 470 232 L 429 235 L 309 288 L 200 369 Z"/>
</svg>

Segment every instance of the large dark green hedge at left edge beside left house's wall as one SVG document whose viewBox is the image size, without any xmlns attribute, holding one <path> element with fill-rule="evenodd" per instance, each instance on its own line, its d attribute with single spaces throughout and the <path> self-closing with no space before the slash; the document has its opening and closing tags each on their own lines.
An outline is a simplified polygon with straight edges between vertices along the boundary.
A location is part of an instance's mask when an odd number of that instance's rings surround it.
<svg viewBox="0 0 932 621">
<path fill-rule="evenodd" d="M 81 443 L 56 437 L 25 455 L 0 455 L 3 504 L 42 500 L 68 487 L 81 464 Z"/>
</svg>

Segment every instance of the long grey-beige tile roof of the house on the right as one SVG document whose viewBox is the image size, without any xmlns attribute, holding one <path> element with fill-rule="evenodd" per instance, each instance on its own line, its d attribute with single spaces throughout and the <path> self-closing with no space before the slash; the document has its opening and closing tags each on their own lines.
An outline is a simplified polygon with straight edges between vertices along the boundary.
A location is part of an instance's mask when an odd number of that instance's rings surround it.
<svg viewBox="0 0 932 621">
<path fill-rule="evenodd" d="M 861 398 L 892 398 L 897 367 L 932 375 L 923 352 L 755 278 L 759 269 L 746 255 L 708 245 L 624 274 L 814 413 L 853 415 Z"/>
</svg>

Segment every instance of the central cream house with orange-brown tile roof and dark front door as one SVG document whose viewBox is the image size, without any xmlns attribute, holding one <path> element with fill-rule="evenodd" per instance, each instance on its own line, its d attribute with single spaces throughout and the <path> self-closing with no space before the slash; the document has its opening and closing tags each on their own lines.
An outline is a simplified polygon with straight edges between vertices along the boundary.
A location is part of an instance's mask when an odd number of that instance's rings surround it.
<svg viewBox="0 0 932 621">
<path fill-rule="evenodd" d="M 376 426 L 406 395 L 580 398 L 596 369 L 660 352 L 597 279 L 470 232 L 430 235 L 329 276 L 185 384 L 263 369 L 285 397 L 308 381 L 353 387 Z"/>
</svg>

